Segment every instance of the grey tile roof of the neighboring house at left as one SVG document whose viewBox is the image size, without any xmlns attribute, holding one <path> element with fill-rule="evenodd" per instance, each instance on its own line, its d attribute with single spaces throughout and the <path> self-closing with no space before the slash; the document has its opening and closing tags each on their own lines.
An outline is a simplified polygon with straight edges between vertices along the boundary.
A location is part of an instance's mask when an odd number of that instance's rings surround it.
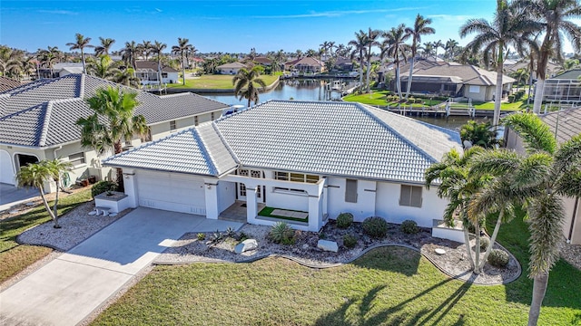
<svg viewBox="0 0 581 326">
<path fill-rule="evenodd" d="M 84 99 L 108 85 L 137 92 L 140 105 L 135 114 L 142 114 L 150 125 L 228 107 L 192 93 L 157 96 L 93 76 L 69 74 L 0 93 L 0 143 L 48 147 L 80 139 L 75 121 L 92 113 Z"/>
</svg>

